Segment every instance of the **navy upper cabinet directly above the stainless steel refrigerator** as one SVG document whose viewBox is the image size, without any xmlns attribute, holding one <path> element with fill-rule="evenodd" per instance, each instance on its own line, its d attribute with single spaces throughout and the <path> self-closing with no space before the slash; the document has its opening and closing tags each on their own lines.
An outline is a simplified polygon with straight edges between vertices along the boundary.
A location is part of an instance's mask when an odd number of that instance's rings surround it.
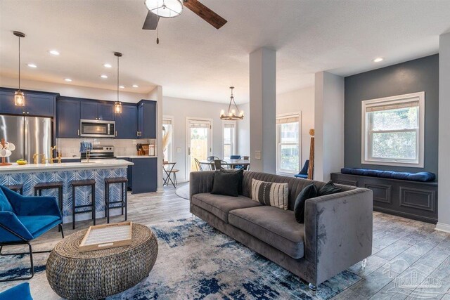
<svg viewBox="0 0 450 300">
<path fill-rule="evenodd" d="M 14 90 L 0 90 L 0 114 L 54 117 L 56 93 L 25 93 L 25 106 L 14 105 Z"/>
</svg>

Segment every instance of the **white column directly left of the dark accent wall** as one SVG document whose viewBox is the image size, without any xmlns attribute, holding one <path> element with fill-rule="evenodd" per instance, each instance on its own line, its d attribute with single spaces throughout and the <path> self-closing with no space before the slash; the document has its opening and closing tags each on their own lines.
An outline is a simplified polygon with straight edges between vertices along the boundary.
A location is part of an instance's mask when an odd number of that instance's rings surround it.
<svg viewBox="0 0 450 300">
<path fill-rule="evenodd" d="M 344 77 L 315 74 L 314 179 L 329 181 L 344 167 Z"/>
</svg>

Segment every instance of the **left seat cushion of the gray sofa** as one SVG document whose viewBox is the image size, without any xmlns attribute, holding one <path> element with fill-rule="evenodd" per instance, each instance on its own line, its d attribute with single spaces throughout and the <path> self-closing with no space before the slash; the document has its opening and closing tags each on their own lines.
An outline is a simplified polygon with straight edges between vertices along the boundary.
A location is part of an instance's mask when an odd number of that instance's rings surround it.
<svg viewBox="0 0 450 300">
<path fill-rule="evenodd" d="M 233 209 L 243 209 L 245 207 L 259 207 L 261 204 L 248 197 L 212 195 L 210 193 L 195 194 L 192 196 L 192 203 L 209 211 L 222 221 L 228 223 L 229 211 Z"/>
</svg>

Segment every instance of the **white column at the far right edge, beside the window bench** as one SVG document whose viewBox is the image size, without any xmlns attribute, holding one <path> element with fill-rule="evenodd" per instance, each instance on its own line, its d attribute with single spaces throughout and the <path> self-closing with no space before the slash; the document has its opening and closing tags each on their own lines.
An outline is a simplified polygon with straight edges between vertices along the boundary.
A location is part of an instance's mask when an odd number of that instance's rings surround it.
<svg viewBox="0 0 450 300">
<path fill-rule="evenodd" d="M 439 157 L 437 230 L 450 233 L 450 32 L 439 37 Z"/>
</svg>

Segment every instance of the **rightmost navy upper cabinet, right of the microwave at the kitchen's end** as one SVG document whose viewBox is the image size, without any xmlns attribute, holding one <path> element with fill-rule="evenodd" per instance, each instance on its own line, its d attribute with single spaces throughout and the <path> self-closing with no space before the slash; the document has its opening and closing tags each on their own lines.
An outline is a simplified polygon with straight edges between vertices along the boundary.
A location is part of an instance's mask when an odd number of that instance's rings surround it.
<svg viewBox="0 0 450 300">
<path fill-rule="evenodd" d="M 156 138 L 156 102 L 141 100 L 138 103 L 139 138 Z"/>
</svg>

